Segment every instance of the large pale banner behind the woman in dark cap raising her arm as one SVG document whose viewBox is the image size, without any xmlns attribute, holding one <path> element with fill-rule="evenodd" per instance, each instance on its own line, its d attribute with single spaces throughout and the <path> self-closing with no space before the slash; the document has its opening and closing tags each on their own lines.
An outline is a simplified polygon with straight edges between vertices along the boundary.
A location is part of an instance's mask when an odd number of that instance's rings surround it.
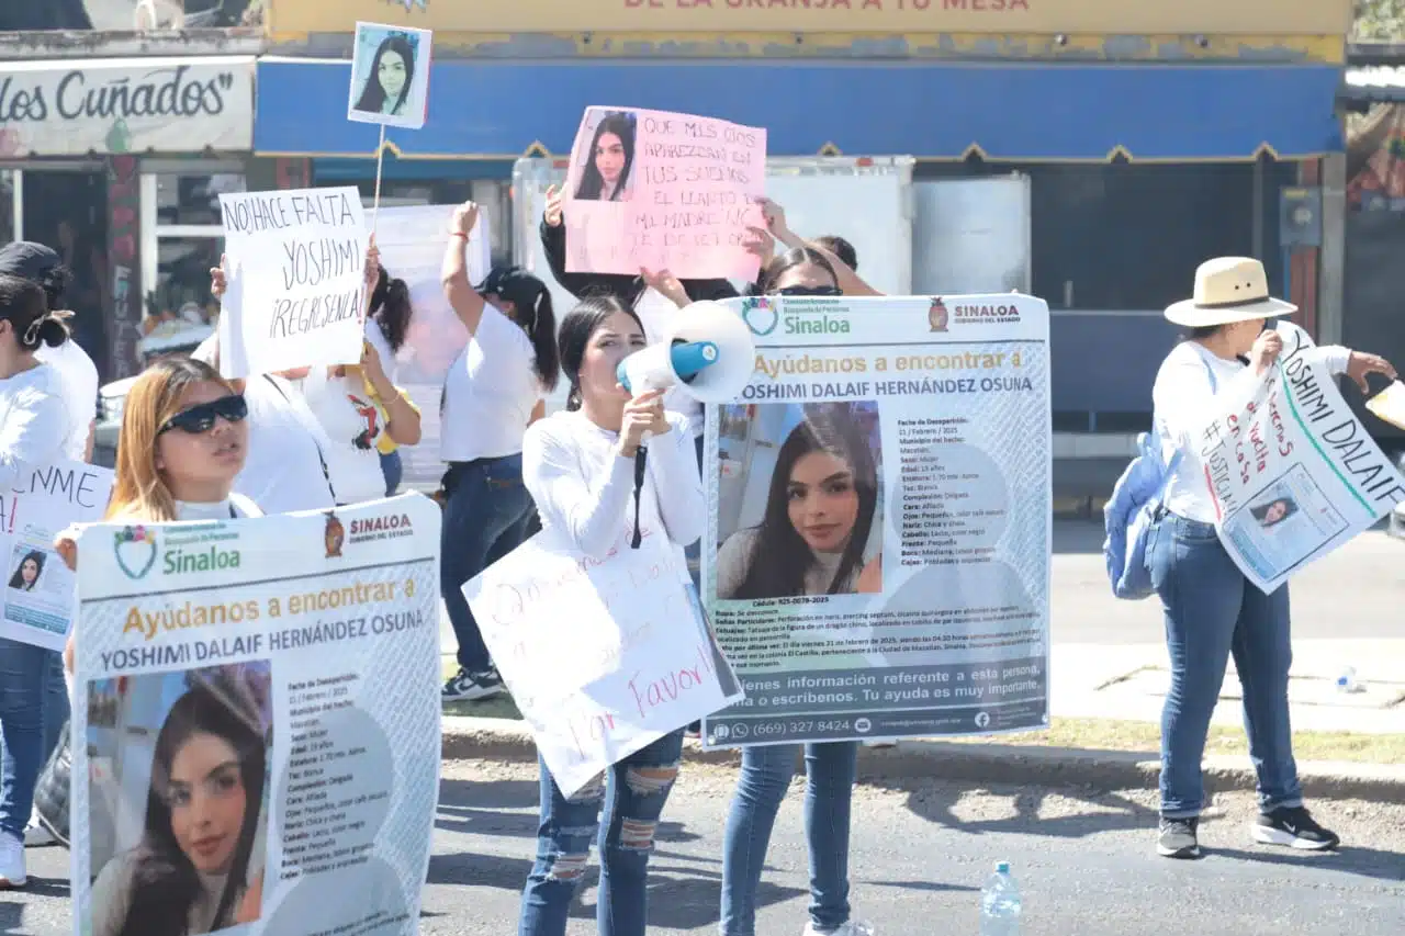
<svg viewBox="0 0 1405 936">
<path fill-rule="evenodd" d="M 410 205 L 382 208 L 375 221 L 375 246 L 381 252 L 381 266 L 410 290 L 410 330 L 395 356 L 399 384 L 420 408 L 420 443 L 405 446 L 405 483 L 437 485 L 444 474 L 440 461 L 440 395 L 464 346 L 468 332 L 444 298 L 440 270 L 444 266 L 444 246 L 448 219 L 454 205 Z M 472 285 L 488 278 L 492 219 L 486 211 L 478 212 L 478 223 L 464 247 L 468 261 L 468 281 Z"/>
</svg>

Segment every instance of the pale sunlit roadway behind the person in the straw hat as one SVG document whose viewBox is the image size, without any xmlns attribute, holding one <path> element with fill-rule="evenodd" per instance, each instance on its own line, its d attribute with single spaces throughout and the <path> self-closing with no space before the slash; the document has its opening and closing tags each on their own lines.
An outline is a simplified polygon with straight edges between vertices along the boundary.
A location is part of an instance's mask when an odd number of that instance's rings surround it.
<svg viewBox="0 0 1405 936">
<path fill-rule="evenodd" d="M 1102 523 L 1054 524 L 1055 644 L 1158 644 L 1161 604 L 1113 597 L 1103 566 Z M 1293 637 L 1401 638 L 1405 541 L 1368 531 L 1294 576 Z"/>
</svg>

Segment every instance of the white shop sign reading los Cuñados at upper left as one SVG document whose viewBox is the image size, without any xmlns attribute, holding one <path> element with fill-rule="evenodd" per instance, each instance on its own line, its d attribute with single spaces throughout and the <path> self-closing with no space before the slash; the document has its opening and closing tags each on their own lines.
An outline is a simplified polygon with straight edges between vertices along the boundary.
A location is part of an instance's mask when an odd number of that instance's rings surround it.
<svg viewBox="0 0 1405 936">
<path fill-rule="evenodd" d="M 247 152 L 254 56 L 6 62 L 0 157 Z"/>
</svg>

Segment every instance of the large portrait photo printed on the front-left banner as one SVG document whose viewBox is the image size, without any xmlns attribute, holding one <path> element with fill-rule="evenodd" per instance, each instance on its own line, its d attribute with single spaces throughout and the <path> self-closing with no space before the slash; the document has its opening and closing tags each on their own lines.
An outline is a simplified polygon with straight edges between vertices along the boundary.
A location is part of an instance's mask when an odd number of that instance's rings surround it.
<svg viewBox="0 0 1405 936">
<path fill-rule="evenodd" d="M 260 918 L 273 760 L 268 661 L 89 684 L 93 936 Z"/>
</svg>

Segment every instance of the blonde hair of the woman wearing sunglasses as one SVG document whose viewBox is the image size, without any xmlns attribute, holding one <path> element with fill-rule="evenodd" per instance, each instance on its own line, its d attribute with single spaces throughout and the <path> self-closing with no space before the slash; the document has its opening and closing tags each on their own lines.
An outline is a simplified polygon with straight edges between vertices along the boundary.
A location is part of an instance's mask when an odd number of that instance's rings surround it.
<svg viewBox="0 0 1405 936">
<path fill-rule="evenodd" d="M 185 389 L 197 384 L 219 384 L 236 392 L 219 371 L 192 357 L 167 357 L 152 364 L 126 392 L 108 520 L 176 520 L 176 498 L 156 468 L 156 437 L 180 412 Z"/>
</svg>

